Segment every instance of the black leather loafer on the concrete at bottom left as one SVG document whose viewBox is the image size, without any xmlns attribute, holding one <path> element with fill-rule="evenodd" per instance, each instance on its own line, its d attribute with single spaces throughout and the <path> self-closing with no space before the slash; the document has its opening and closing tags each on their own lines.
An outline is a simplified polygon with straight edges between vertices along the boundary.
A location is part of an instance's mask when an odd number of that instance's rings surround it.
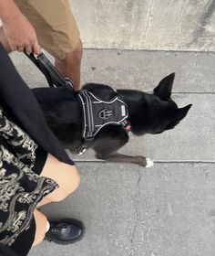
<svg viewBox="0 0 215 256">
<path fill-rule="evenodd" d="M 84 224 L 77 219 L 48 220 L 50 229 L 46 232 L 45 240 L 57 244 L 70 244 L 81 240 L 84 235 Z"/>
</svg>

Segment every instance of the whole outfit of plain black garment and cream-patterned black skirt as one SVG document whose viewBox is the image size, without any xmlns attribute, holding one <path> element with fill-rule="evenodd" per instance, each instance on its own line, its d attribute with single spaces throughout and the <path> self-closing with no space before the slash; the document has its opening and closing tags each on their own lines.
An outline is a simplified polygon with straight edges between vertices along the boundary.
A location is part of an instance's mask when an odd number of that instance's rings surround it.
<svg viewBox="0 0 215 256">
<path fill-rule="evenodd" d="M 36 232 L 32 213 L 57 187 L 55 181 L 37 175 L 47 153 L 74 165 L 0 45 L 0 250 L 4 245 L 24 256 L 32 246 Z"/>
</svg>

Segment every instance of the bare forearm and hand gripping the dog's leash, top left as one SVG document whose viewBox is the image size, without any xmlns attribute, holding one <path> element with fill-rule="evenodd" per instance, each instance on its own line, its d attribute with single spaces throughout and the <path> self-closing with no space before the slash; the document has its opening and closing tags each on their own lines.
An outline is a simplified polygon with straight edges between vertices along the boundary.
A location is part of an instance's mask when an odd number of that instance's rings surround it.
<svg viewBox="0 0 215 256">
<path fill-rule="evenodd" d="M 13 0 L 0 0 L 0 19 L 12 50 L 41 53 L 34 27 Z"/>
</svg>

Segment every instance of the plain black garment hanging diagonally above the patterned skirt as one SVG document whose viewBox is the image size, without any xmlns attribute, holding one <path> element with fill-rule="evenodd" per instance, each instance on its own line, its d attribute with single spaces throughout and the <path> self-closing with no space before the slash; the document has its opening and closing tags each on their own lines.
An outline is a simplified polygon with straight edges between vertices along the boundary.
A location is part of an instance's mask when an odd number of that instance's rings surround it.
<svg viewBox="0 0 215 256">
<path fill-rule="evenodd" d="M 74 165 L 66 151 L 47 126 L 36 97 L 15 70 L 0 44 L 0 104 L 26 133 L 46 152 L 69 165 Z"/>
</svg>

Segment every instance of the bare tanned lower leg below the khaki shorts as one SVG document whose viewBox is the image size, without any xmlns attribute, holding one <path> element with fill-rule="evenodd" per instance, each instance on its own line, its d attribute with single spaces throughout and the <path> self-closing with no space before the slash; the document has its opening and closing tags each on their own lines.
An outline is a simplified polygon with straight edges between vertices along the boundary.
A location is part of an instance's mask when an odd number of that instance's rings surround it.
<svg viewBox="0 0 215 256">
<path fill-rule="evenodd" d="M 74 89 L 78 90 L 80 87 L 80 65 L 82 59 L 83 46 L 81 40 L 77 48 L 66 54 L 65 59 L 56 59 L 56 69 L 62 74 L 63 77 L 69 78 L 74 82 Z"/>
</svg>

